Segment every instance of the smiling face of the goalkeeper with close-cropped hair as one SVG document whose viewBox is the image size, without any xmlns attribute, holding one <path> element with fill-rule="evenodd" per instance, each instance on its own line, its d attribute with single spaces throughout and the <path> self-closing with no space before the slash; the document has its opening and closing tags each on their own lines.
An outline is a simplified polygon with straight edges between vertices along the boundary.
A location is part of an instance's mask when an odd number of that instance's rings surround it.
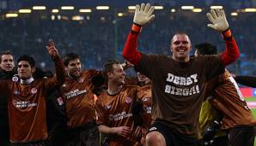
<svg viewBox="0 0 256 146">
<path fill-rule="evenodd" d="M 171 51 L 174 61 L 189 61 L 189 54 L 192 49 L 190 39 L 186 34 L 175 34 L 171 41 Z"/>
</svg>

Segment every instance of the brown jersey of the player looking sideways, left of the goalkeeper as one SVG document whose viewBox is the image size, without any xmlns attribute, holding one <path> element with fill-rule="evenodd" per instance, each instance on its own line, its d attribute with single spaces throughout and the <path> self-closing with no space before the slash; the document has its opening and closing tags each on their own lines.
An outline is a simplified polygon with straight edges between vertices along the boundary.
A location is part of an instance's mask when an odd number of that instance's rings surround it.
<svg viewBox="0 0 256 146">
<path fill-rule="evenodd" d="M 110 96 L 106 92 L 101 94 L 96 101 L 97 123 L 109 127 L 128 126 L 131 127 L 131 137 L 111 136 L 111 146 L 135 145 L 134 121 L 132 117 L 132 106 L 137 101 L 137 86 L 124 86 L 118 94 Z"/>
</svg>

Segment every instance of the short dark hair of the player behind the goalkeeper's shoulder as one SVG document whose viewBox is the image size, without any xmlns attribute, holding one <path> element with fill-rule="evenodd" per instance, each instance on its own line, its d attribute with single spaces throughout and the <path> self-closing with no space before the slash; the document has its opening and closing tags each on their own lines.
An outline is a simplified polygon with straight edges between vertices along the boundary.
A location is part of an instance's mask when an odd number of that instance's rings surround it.
<svg viewBox="0 0 256 146">
<path fill-rule="evenodd" d="M 216 46 L 210 43 L 201 43 L 195 45 L 196 50 L 199 51 L 201 55 L 216 55 Z"/>
</svg>

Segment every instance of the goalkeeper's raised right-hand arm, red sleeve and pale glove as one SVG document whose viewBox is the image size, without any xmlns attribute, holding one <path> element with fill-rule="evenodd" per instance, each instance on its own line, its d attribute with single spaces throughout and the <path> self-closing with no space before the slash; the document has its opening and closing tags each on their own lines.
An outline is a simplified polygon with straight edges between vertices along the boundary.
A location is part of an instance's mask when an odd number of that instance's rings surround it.
<svg viewBox="0 0 256 146">
<path fill-rule="evenodd" d="M 229 29 L 225 12 L 223 9 L 211 9 L 210 13 L 206 15 L 212 23 L 208 24 L 208 26 L 222 33 L 222 37 L 225 41 L 225 50 L 221 53 L 221 58 L 223 65 L 228 66 L 239 58 L 240 52 Z"/>
</svg>

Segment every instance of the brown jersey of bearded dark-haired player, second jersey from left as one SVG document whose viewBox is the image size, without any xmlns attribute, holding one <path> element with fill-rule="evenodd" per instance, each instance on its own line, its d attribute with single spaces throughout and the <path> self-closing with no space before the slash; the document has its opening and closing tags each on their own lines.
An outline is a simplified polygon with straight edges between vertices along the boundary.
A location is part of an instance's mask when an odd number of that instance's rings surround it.
<svg viewBox="0 0 256 146">
<path fill-rule="evenodd" d="M 95 120 L 93 78 L 100 72 L 82 71 L 79 79 L 65 78 L 60 91 L 64 96 L 67 114 L 67 126 L 74 128 Z"/>
</svg>

